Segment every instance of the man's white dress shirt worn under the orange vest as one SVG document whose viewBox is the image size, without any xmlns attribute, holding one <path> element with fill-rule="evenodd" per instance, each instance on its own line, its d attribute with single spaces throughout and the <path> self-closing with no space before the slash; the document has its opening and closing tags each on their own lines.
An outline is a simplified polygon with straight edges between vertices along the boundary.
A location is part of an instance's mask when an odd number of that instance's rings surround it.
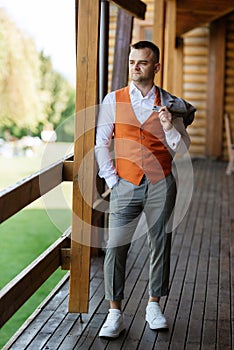
<svg viewBox="0 0 234 350">
<path fill-rule="evenodd" d="M 137 120 L 143 124 L 152 114 L 156 97 L 156 87 L 153 86 L 146 96 L 142 96 L 140 90 L 130 84 L 130 100 Z M 105 178 L 109 188 L 118 182 L 118 174 L 112 161 L 110 151 L 111 140 L 116 115 L 115 91 L 106 95 L 100 106 L 97 131 L 95 155 L 99 166 L 99 176 Z M 170 149 L 175 153 L 183 154 L 190 145 L 190 138 L 185 129 L 183 118 L 175 118 L 172 128 L 164 130 L 165 138 Z"/>
</svg>

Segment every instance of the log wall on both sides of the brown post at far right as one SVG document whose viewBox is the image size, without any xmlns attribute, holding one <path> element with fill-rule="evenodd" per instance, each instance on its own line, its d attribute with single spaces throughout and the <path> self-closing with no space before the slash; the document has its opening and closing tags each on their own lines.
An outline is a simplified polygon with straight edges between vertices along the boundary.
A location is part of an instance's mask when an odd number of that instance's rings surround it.
<svg viewBox="0 0 234 350">
<path fill-rule="evenodd" d="M 226 52 L 223 112 L 231 119 L 234 135 L 234 12 L 226 16 Z M 208 116 L 207 91 L 209 69 L 209 26 L 197 28 L 184 36 L 183 97 L 197 108 L 195 122 L 188 127 L 190 153 L 206 155 Z M 227 159 L 226 134 L 223 123 L 221 158 Z"/>
</svg>

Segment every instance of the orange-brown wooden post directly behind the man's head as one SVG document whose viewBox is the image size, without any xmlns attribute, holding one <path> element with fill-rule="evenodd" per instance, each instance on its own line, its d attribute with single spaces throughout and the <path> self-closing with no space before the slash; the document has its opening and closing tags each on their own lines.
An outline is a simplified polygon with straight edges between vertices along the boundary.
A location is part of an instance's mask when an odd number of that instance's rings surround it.
<svg viewBox="0 0 234 350">
<path fill-rule="evenodd" d="M 154 25 L 153 41 L 160 50 L 160 62 L 163 66 L 164 60 L 164 22 L 165 22 L 165 0 L 154 1 Z M 163 67 L 155 76 L 155 84 L 163 86 Z"/>
</svg>

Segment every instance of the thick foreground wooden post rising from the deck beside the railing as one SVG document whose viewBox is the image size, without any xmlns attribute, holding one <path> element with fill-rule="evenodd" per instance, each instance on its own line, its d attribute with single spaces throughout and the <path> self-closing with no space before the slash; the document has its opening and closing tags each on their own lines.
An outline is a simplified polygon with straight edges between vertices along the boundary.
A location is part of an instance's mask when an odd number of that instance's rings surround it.
<svg viewBox="0 0 234 350">
<path fill-rule="evenodd" d="M 69 312 L 88 312 L 99 1 L 79 0 Z"/>
</svg>

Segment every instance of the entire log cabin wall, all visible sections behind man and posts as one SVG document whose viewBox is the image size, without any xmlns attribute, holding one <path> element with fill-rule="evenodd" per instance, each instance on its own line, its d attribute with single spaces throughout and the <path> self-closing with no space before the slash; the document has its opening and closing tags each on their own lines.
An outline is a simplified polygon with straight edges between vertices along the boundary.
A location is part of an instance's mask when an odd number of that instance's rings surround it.
<svg viewBox="0 0 234 350">
<path fill-rule="evenodd" d="M 134 19 L 132 42 L 152 40 L 154 21 L 154 0 L 144 0 L 147 4 L 145 20 Z M 113 56 L 118 8 L 110 5 L 110 39 L 109 39 L 109 90 L 113 69 Z M 226 65 L 225 65 L 225 96 L 224 112 L 230 114 L 232 133 L 234 135 L 234 12 L 226 16 Z M 208 79 L 209 79 L 209 25 L 196 28 L 183 36 L 183 78 L 182 97 L 196 108 L 196 119 L 188 127 L 191 136 L 190 153 L 192 156 L 206 156 L 207 120 L 208 118 Z M 157 44 L 157 43 L 156 43 Z M 179 77 L 176 77 L 179 82 Z M 178 89 L 180 91 L 180 89 Z M 177 94 L 177 92 L 174 92 Z M 179 94 L 180 95 L 180 94 Z M 226 135 L 223 128 L 222 154 L 227 158 Z"/>
</svg>

